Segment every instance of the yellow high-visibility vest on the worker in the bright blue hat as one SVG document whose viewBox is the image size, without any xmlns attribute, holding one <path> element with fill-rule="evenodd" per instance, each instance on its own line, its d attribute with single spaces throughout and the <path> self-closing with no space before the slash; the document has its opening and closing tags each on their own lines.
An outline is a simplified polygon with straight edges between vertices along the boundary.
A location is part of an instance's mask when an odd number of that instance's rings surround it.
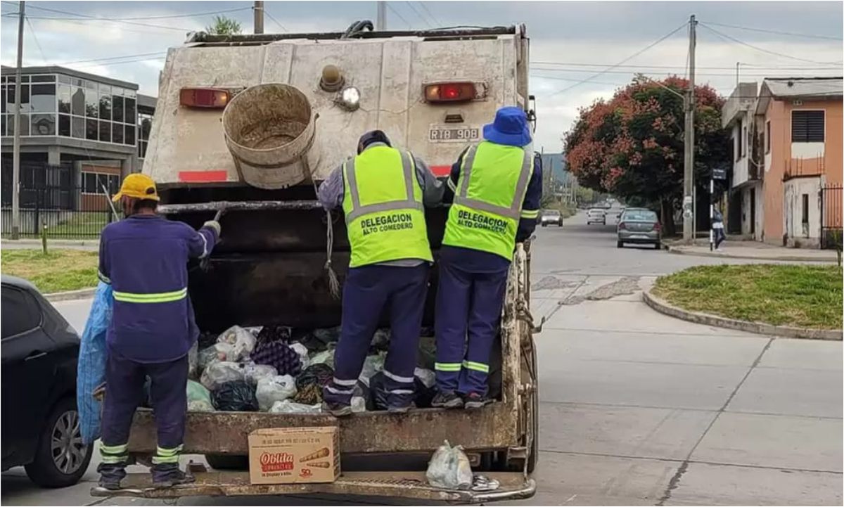
<svg viewBox="0 0 844 507">
<path fill-rule="evenodd" d="M 484 141 L 463 154 L 443 245 L 488 251 L 510 261 L 533 153 Z"/>
</svg>

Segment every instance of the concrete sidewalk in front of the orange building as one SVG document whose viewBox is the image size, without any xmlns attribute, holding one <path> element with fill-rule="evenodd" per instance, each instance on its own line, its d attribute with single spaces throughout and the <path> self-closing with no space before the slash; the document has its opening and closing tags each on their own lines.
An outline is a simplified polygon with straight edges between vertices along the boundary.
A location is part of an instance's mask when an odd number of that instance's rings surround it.
<svg viewBox="0 0 844 507">
<path fill-rule="evenodd" d="M 724 241 L 721 251 L 710 251 L 709 243 L 695 242 L 695 245 L 668 245 L 668 251 L 690 256 L 728 257 L 734 259 L 757 259 L 759 261 L 784 262 L 836 262 L 834 250 L 808 248 L 785 248 L 758 241 Z"/>
</svg>

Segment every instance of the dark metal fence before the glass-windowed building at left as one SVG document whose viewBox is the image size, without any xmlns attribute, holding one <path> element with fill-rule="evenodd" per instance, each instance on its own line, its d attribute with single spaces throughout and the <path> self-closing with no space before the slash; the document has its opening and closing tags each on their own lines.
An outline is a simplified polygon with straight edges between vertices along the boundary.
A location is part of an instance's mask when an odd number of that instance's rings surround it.
<svg viewBox="0 0 844 507">
<path fill-rule="evenodd" d="M 12 234 L 11 164 L 3 161 L 0 234 Z M 106 189 L 119 178 L 84 174 L 77 178 L 71 165 L 21 164 L 19 235 L 34 238 L 46 229 L 50 238 L 95 238 L 114 220 Z M 106 186 L 106 189 L 103 188 Z"/>
</svg>

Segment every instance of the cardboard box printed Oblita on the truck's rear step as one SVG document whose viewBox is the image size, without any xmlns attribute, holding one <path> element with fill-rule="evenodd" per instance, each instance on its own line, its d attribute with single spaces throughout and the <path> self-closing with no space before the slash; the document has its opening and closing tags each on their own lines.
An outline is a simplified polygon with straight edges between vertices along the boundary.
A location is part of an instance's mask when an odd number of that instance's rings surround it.
<svg viewBox="0 0 844 507">
<path fill-rule="evenodd" d="M 249 434 L 252 484 L 333 483 L 340 475 L 338 429 L 256 429 Z"/>
</svg>

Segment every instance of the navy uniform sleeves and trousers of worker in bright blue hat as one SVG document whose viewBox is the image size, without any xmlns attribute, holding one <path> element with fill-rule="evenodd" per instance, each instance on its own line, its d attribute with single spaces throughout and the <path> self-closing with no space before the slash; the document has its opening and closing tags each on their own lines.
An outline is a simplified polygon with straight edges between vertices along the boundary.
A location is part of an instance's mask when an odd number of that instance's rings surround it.
<svg viewBox="0 0 844 507">
<path fill-rule="evenodd" d="M 444 195 L 446 202 L 453 199 L 465 153 L 452 165 Z M 535 155 L 522 209 L 538 210 L 541 200 L 542 159 Z M 530 218 L 519 219 L 517 242 L 527 240 L 536 229 L 535 213 L 527 214 Z M 440 391 L 487 393 L 490 353 L 498 336 L 510 263 L 511 260 L 488 251 L 442 246 L 436 294 L 436 363 L 463 363 L 463 368 L 437 368 Z"/>
</svg>

